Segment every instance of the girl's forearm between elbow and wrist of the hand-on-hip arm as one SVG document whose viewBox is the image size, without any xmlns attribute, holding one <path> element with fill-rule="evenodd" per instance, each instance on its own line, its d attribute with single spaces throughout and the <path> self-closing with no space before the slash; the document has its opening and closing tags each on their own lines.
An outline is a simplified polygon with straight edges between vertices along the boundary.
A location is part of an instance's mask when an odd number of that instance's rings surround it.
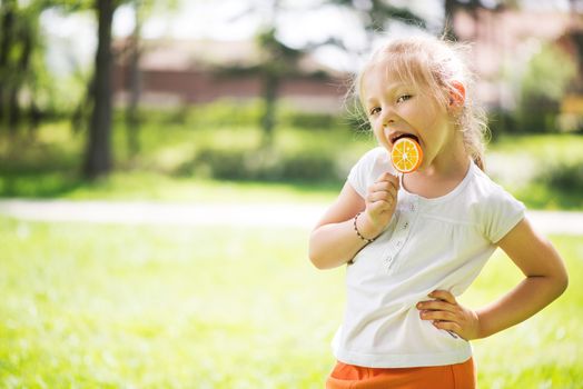
<svg viewBox="0 0 583 389">
<path fill-rule="evenodd" d="M 476 311 L 480 338 L 515 326 L 555 300 L 566 288 L 560 277 L 526 277 L 500 300 Z"/>
</svg>

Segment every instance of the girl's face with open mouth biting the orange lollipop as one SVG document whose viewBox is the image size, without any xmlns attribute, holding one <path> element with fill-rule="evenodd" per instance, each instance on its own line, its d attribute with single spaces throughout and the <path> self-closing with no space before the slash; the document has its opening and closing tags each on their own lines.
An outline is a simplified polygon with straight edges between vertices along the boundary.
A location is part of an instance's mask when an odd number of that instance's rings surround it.
<svg viewBox="0 0 583 389">
<path fill-rule="evenodd" d="M 363 76 L 362 93 L 373 131 L 387 150 L 402 136 L 416 138 L 423 149 L 423 169 L 453 148 L 455 131 L 446 108 L 414 84 L 387 76 L 377 66 Z"/>
</svg>

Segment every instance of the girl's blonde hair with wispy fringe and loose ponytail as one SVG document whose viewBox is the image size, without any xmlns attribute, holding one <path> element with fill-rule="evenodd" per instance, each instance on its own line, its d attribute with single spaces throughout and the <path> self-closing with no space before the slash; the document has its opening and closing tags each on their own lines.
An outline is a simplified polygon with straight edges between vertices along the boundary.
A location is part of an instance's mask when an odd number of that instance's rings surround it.
<svg viewBox="0 0 583 389">
<path fill-rule="evenodd" d="M 484 170 L 488 129 L 485 112 L 474 100 L 475 81 L 465 62 L 466 52 L 465 46 L 428 36 L 391 40 L 373 53 L 355 78 L 352 91 L 363 109 L 363 76 L 378 66 L 384 66 L 387 74 L 396 74 L 417 87 L 443 107 L 451 103 L 452 93 L 462 97 L 456 88 L 461 82 L 465 88 L 465 99 L 455 124 L 463 133 L 467 153 Z"/>
</svg>

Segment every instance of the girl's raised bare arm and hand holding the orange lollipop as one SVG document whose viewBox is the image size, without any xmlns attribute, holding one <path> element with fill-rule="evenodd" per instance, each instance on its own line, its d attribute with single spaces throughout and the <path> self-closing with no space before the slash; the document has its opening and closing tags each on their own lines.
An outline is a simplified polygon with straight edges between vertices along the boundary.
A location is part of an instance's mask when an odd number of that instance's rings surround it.
<svg viewBox="0 0 583 389">
<path fill-rule="evenodd" d="M 358 231 L 365 238 L 376 238 L 391 221 L 397 190 L 398 180 L 389 173 L 378 178 L 366 199 L 346 182 L 336 201 L 312 231 L 309 259 L 314 266 L 332 269 L 352 260 L 367 243 L 356 235 L 354 217 L 363 212 L 357 219 Z"/>
</svg>

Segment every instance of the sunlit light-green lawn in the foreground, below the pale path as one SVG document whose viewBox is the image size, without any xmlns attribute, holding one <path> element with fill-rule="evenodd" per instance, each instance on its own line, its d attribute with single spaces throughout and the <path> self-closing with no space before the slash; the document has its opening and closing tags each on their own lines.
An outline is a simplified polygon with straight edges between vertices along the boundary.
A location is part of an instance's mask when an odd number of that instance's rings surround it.
<svg viewBox="0 0 583 389">
<path fill-rule="evenodd" d="M 309 265 L 307 236 L 0 218 L 0 387 L 322 388 L 344 277 Z M 474 342 L 482 388 L 583 381 L 583 241 L 552 240 L 571 287 Z M 463 301 L 478 307 L 518 279 L 497 252 Z"/>
</svg>

